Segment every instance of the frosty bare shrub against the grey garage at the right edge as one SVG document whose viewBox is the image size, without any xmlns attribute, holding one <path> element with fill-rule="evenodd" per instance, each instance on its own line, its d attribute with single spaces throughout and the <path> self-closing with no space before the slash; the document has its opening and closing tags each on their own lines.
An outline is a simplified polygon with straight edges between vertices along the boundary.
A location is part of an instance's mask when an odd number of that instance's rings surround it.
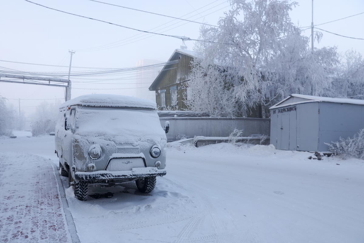
<svg viewBox="0 0 364 243">
<path fill-rule="evenodd" d="M 364 129 L 355 134 L 352 138 L 341 138 L 337 142 L 325 143 L 329 146 L 329 151 L 339 155 L 341 158 L 361 158 L 364 159 Z"/>
</svg>

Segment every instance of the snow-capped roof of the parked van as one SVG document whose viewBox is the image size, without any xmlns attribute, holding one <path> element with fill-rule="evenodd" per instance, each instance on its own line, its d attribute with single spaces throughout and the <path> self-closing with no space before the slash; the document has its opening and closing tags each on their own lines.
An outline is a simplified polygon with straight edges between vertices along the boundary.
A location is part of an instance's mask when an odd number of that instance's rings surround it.
<svg viewBox="0 0 364 243">
<path fill-rule="evenodd" d="M 157 104 L 153 101 L 116 94 L 87 94 L 64 102 L 59 108 L 72 105 L 82 105 L 91 107 L 133 107 L 157 109 Z"/>
</svg>

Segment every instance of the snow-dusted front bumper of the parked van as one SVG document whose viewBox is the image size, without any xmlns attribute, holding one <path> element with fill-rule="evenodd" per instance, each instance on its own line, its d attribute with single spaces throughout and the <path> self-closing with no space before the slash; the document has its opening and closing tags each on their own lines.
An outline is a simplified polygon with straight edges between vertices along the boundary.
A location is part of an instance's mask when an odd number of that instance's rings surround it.
<svg viewBox="0 0 364 243">
<path fill-rule="evenodd" d="M 75 172 L 76 181 L 127 181 L 148 176 L 164 176 L 165 169 L 156 167 L 133 168 L 131 171 Z"/>
</svg>

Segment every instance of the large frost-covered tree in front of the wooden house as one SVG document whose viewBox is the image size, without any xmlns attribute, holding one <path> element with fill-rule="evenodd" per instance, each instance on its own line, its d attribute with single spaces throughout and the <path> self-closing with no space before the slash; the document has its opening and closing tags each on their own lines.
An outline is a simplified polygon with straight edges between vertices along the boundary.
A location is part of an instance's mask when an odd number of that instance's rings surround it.
<svg viewBox="0 0 364 243">
<path fill-rule="evenodd" d="M 203 26 L 195 44 L 187 106 L 213 116 L 265 108 L 291 93 L 323 95 L 330 89 L 335 48 L 309 48 L 292 23 L 297 3 L 232 0 L 218 27 Z M 320 35 L 318 35 L 320 37 Z"/>
</svg>

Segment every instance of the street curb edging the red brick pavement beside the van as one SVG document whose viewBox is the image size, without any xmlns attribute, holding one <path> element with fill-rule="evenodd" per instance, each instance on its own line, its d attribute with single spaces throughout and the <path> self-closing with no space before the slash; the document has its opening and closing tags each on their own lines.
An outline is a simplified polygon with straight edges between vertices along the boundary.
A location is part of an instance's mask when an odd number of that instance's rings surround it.
<svg viewBox="0 0 364 243">
<path fill-rule="evenodd" d="M 80 239 L 78 238 L 78 235 L 77 235 L 75 222 L 73 220 L 71 211 L 68 209 L 68 201 L 67 201 L 67 198 L 66 198 L 66 193 L 64 192 L 64 187 L 63 187 L 62 180 L 61 180 L 60 175 L 58 173 L 58 168 L 54 163 L 51 162 L 51 164 L 53 166 L 54 173 L 55 173 L 55 176 L 57 178 L 57 184 L 58 184 L 58 188 L 59 188 L 60 199 L 62 200 L 63 211 L 64 211 L 64 215 L 66 216 L 66 222 L 68 224 L 68 231 L 70 231 L 72 243 L 80 243 Z"/>
</svg>

